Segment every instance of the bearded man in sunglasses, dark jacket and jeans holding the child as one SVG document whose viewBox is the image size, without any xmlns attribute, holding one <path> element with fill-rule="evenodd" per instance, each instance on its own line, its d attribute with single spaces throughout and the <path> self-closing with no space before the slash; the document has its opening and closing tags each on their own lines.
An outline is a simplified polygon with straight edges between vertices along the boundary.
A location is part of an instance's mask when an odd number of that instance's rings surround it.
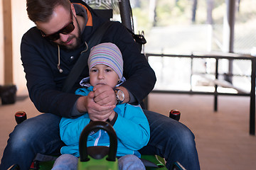
<svg viewBox="0 0 256 170">
<path fill-rule="evenodd" d="M 3 158 L 1 170 L 12 164 L 28 169 L 37 153 L 59 154 L 63 142 L 59 136 L 61 117 L 76 118 L 85 112 L 91 120 L 105 121 L 120 103 L 138 103 L 154 88 L 156 77 L 136 42 L 121 23 L 113 22 L 102 37 L 122 52 L 124 77 L 119 86 L 124 98 L 116 98 L 110 86 L 99 85 L 89 96 L 77 96 L 79 81 L 88 76 L 88 66 L 68 92 L 63 84 L 87 41 L 102 23 L 89 6 L 70 4 L 68 0 L 27 0 L 28 17 L 36 27 L 28 30 L 21 41 L 21 60 L 29 96 L 42 115 L 16 126 Z M 150 140 L 142 154 L 158 154 L 166 166 L 178 161 L 186 169 L 200 169 L 193 133 L 185 125 L 159 113 L 144 111 L 150 125 Z"/>
</svg>

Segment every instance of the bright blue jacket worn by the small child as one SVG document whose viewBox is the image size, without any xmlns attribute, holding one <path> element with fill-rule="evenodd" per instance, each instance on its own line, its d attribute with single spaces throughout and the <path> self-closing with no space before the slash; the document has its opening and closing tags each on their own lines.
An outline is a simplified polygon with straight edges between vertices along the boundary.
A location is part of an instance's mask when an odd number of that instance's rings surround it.
<svg viewBox="0 0 256 170">
<path fill-rule="evenodd" d="M 78 89 L 76 94 L 87 96 L 92 89 L 93 86 L 88 89 Z M 146 146 L 150 137 L 149 123 L 142 108 L 124 103 L 117 105 L 114 111 L 118 114 L 113 125 L 117 133 L 117 157 L 126 154 L 134 154 L 140 157 L 137 150 Z M 61 154 L 73 154 L 75 157 L 79 157 L 79 137 L 88 123 L 90 123 L 88 114 L 76 119 L 62 118 L 60 120 L 60 138 L 67 145 L 61 148 Z M 109 145 L 110 140 L 104 130 L 99 130 L 87 138 L 87 147 Z"/>
</svg>

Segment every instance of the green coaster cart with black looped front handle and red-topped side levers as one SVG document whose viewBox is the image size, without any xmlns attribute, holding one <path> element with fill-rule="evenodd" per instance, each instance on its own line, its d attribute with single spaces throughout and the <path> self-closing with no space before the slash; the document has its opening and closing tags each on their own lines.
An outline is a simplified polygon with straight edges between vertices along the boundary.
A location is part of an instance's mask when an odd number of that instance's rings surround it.
<svg viewBox="0 0 256 170">
<path fill-rule="evenodd" d="M 171 110 L 169 118 L 179 120 L 181 113 L 177 110 Z M 26 120 L 26 113 L 18 111 L 15 114 L 16 122 L 22 123 Z M 105 130 L 110 137 L 110 147 L 95 146 L 87 147 L 87 137 L 92 130 Z M 80 158 L 78 160 L 78 170 L 118 170 L 117 162 L 117 135 L 114 128 L 107 122 L 92 121 L 83 130 L 79 141 Z M 38 155 L 37 155 L 38 157 Z M 34 159 L 29 170 L 49 170 L 52 169 L 55 156 L 42 155 L 43 159 Z M 142 155 L 142 162 L 146 166 L 146 170 L 167 170 L 165 161 L 158 155 Z M 172 166 L 173 170 L 184 170 L 179 162 L 175 162 Z M 8 170 L 20 170 L 17 164 L 11 166 Z"/>
</svg>

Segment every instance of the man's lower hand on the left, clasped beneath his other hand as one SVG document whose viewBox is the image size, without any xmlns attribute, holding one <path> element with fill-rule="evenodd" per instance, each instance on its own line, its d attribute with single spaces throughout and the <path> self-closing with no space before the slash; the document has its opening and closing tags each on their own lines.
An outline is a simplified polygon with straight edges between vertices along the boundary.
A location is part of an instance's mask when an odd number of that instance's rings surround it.
<svg viewBox="0 0 256 170">
<path fill-rule="evenodd" d="M 101 106 L 94 101 L 95 93 L 92 91 L 88 96 L 78 98 L 77 108 L 80 113 L 87 112 L 93 121 L 106 121 L 112 114 L 115 105 Z"/>
</svg>

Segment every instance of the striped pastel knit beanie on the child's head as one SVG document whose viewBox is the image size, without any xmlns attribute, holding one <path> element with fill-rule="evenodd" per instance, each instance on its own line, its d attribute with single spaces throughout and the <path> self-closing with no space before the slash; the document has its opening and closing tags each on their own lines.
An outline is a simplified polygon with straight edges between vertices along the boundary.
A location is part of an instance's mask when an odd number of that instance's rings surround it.
<svg viewBox="0 0 256 170">
<path fill-rule="evenodd" d="M 88 58 L 89 71 L 97 64 L 105 64 L 108 67 L 111 67 L 114 69 L 114 72 L 117 73 L 119 79 L 122 79 L 122 53 L 117 45 L 114 45 L 111 42 L 105 42 L 92 47 Z"/>
</svg>

